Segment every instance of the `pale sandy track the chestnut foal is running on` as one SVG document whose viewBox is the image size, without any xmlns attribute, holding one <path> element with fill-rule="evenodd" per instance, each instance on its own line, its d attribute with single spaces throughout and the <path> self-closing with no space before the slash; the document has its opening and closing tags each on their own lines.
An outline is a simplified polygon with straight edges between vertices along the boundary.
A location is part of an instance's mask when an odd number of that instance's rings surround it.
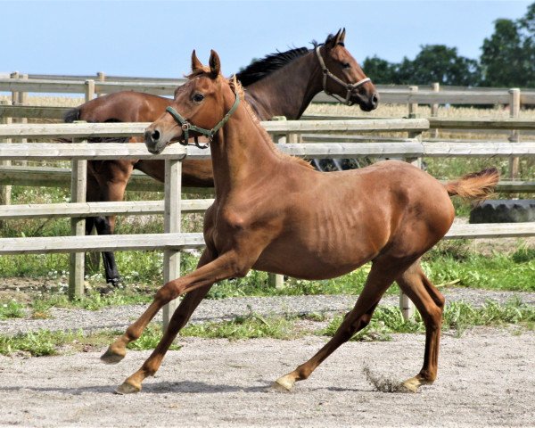
<svg viewBox="0 0 535 428">
<path fill-rule="evenodd" d="M 363 374 L 403 380 L 422 364 L 424 336 L 350 342 L 296 391 L 268 386 L 309 358 L 325 338 L 183 339 L 144 391 L 113 389 L 149 352 L 119 366 L 99 353 L 0 357 L 0 425 L 11 426 L 533 426 L 535 332 L 477 329 L 445 334 L 440 377 L 417 394 L 378 392 Z"/>
</svg>

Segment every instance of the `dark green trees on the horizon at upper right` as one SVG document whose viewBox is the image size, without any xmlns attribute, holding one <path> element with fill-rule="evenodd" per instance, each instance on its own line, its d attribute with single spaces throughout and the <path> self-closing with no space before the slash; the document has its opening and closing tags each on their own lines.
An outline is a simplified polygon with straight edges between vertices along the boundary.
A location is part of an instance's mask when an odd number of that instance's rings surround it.
<svg viewBox="0 0 535 428">
<path fill-rule="evenodd" d="M 414 60 L 388 62 L 373 56 L 363 68 L 381 84 L 535 87 L 535 3 L 519 20 L 494 22 L 479 60 L 459 55 L 456 47 L 422 45 Z"/>
</svg>

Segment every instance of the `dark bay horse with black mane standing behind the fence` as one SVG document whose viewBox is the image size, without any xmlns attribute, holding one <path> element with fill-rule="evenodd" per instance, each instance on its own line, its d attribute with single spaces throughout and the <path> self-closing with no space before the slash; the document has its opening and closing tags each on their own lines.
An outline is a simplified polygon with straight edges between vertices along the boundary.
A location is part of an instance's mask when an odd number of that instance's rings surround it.
<svg viewBox="0 0 535 428">
<path fill-rule="evenodd" d="M 274 116 L 299 119 L 312 98 L 322 90 L 363 111 L 378 105 L 373 83 L 366 78 L 344 46 L 345 29 L 329 35 L 324 44 L 274 53 L 251 63 L 236 74 L 246 87 L 245 99 L 261 120 Z M 123 91 L 103 95 L 68 111 L 66 122 L 153 122 L 172 103 L 157 95 Z M 130 141 L 137 141 L 136 138 Z M 163 161 L 88 161 L 87 202 L 119 202 L 124 198 L 133 169 L 163 182 Z M 213 187 L 211 161 L 182 162 L 182 185 Z M 115 216 L 86 218 L 86 235 L 95 226 L 99 235 L 112 235 Z M 113 252 L 103 252 L 106 282 L 119 284 L 119 270 Z"/>
</svg>

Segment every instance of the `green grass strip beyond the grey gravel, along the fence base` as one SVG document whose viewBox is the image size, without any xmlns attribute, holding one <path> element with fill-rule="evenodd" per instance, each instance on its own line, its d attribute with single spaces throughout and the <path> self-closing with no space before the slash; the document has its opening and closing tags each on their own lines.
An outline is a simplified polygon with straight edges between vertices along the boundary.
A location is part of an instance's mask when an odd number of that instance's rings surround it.
<svg viewBox="0 0 535 428">
<path fill-rule="evenodd" d="M 103 284 L 103 277 L 97 274 L 87 277 L 87 283 L 93 287 L 78 300 L 67 297 L 67 276 L 64 272 L 48 271 L 46 257 L 35 256 L 33 265 L 30 258 L 24 258 L 25 264 L 14 268 L 33 268 L 35 272 L 45 274 L 45 288 L 38 291 L 11 293 L 9 299 L 0 298 L 0 318 L 21 317 L 24 309 L 29 309 L 32 317 L 48 317 L 51 308 L 79 308 L 98 310 L 109 306 L 130 305 L 152 301 L 154 293 L 162 284 L 161 253 L 123 252 L 119 259 L 119 267 L 127 272 L 124 286 L 110 294 L 101 295 L 95 287 Z M 0 267 L 5 266 L 6 259 L 0 259 Z M 184 254 L 183 274 L 192 271 L 197 257 Z M 366 264 L 356 271 L 338 278 L 324 281 L 305 281 L 286 278 L 286 287 L 276 290 L 268 285 L 268 274 L 251 270 L 243 278 L 221 281 L 215 284 L 208 295 L 209 299 L 223 299 L 243 296 L 276 296 L 276 295 L 320 295 L 320 294 L 351 294 L 362 291 L 366 276 L 370 269 Z M 434 284 L 455 284 L 455 286 L 472 289 L 496 291 L 535 292 L 535 249 L 519 246 L 516 251 L 506 253 L 478 254 L 470 251 L 464 241 L 446 241 L 424 256 L 422 266 Z M 45 267 L 45 268 L 44 268 Z M 5 276 L 13 272 L 3 268 Z M 19 273 L 20 270 L 14 270 Z M 392 285 L 387 294 L 398 294 L 399 288 Z"/>
</svg>

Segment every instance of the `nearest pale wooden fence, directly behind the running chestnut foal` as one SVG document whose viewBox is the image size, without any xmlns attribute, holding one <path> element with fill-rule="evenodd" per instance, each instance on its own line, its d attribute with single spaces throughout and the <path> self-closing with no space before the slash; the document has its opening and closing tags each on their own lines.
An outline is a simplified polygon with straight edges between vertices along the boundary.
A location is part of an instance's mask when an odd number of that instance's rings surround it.
<svg viewBox="0 0 535 428">
<path fill-rule="evenodd" d="M 92 136 L 141 136 L 147 124 L 14 124 L 0 126 L 0 138 L 56 137 L 86 139 Z M 424 142 L 418 135 L 428 129 L 427 119 L 363 119 L 335 121 L 272 121 L 264 122 L 268 132 L 278 139 L 288 134 L 318 134 L 325 132 L 385 132 L 401 131 L 413 136 L 391 142 L 279 144 L 280 150 L 309 158 L 347 158 L 356 156 L 397 157 L 412 161 L 422 156 L 535 156 L 535 142 L 470 144 Z M 510 125 L 510 124 L 509 124 Z M 517 124 L 514 123 L 514 126 Z M 482 126 L 482 125 L 481 125 Z M 520 125 L 519 125 L 520 126 Z M 70 252 L 70 294 L 83 292 L 83 251 L 162 250 L 164 251 L 164 279 L 179 275 L 178 252 L 184 248 L 201 247 L 201 234 L 180 233 L 182 211 L 205 210 L 210 200 L 182 201 L 180 197 L 180 159 L 187 153 L 191 159 L 207 159 L 209 151 L 174 144 L 161 155 L 146 152 L 144 144 L 0 144 L 0 161 L 6 160 L 70 160 L 70 204 L 12 205 L 0 207 L 0 219 L 29 217 L 70 217 L 73 236 L 28 237 L 0 239 L 0 254 Z M 166 162 L 165 197 L 162 202 L 92 202 L 86 203 L 86 160 L 105 159 L 162 159 Z M 83 218 L 95 215 L 144 215 L 163 213 L 165 233 L 156 235 L 84 236 Z M 453 226 L 447 238 L 478 238 L 495 236 L 535 235 L 535 223 L 499 225 Z M 402 303 L 407 309 L 406 302 Z M 168 307 L 164 318 L 174 307 Z M 406 310 L 406 316 L 407 310 Z"/>
</svg>

